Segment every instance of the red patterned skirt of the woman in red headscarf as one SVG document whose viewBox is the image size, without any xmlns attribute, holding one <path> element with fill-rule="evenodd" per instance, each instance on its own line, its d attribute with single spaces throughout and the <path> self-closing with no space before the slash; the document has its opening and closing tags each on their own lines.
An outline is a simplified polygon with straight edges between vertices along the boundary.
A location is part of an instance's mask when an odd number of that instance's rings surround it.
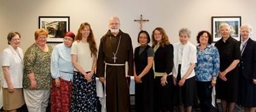
<svg viewBox="0 0 256 112">
<path fill-rule="evenodd" d="M 55 86 L 55 79 L 51 88 L 51 111 L 70 111 L 72 97 L 72 81 L 59 78 L 59 87 Z"/>
</svg>

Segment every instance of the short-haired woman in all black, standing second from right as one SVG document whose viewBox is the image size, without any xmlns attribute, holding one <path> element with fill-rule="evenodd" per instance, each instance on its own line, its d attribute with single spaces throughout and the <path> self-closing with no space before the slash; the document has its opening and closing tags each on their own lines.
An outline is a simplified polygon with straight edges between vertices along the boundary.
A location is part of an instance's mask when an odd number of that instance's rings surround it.
<svg viewBox="0 0 256 112">
<path fill-rule="evenodd" d="M 240 61 L 240 44 L 229 35 L 229 24 L 221 24 L 219 33 L 222 38 L 215 43 L 221 62 L 216 83 L 216 98 L 221 99 L 223 111 L 233 111 L 238 100 L 237 65 Z"/>
</svg>

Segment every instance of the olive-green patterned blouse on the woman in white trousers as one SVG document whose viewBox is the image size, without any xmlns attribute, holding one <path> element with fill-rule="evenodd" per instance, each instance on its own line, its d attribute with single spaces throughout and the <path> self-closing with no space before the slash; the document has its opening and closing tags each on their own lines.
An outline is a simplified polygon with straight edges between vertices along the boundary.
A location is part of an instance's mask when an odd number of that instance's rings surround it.
<svg viewBox="0 0 256 112">
<path fill-rule="evenodd" d="M 48 45 L 48 52 L 44 52 L 38 45 L 33 43 L 25 52 L 24 56 L 24 76 L 23 76 L 23 88 L 31 88 L 29 73 L 35 73 L 35 80 L 37 83 L 36 90 L 48 90 L 51 89 L 51 54 L 53 48 Z"/>
</svg>

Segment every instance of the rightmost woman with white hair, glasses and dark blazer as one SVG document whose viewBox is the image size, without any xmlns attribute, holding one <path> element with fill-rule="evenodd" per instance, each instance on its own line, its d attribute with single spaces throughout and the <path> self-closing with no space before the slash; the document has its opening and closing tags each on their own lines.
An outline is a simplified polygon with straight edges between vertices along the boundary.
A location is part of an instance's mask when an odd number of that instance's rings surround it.
<svg viewBox="0 0 256 112">
<path fill-rule="evenodd" d="M 256 109 L 256 41 L 251 39 L 253 28 L 249 24 L 240 27 L 242 41 L 240 41 L 241 59 L 238 78 L 238 105 L 244 111 Z"/>
</svg>

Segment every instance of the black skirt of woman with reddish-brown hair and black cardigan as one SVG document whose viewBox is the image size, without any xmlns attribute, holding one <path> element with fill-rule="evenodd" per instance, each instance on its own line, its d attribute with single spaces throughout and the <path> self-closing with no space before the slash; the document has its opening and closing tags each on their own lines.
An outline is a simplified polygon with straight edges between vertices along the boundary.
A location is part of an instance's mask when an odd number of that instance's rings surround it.
<svg viewBox="0 0 256 112">
<path fill-rule="evenodd" d="M 162 77 L 154 79 L 154 111 L 172 111 L 173 109 L 173 75 L 167 76 L 167 84 L 162 86 Z"/>
</svg>

